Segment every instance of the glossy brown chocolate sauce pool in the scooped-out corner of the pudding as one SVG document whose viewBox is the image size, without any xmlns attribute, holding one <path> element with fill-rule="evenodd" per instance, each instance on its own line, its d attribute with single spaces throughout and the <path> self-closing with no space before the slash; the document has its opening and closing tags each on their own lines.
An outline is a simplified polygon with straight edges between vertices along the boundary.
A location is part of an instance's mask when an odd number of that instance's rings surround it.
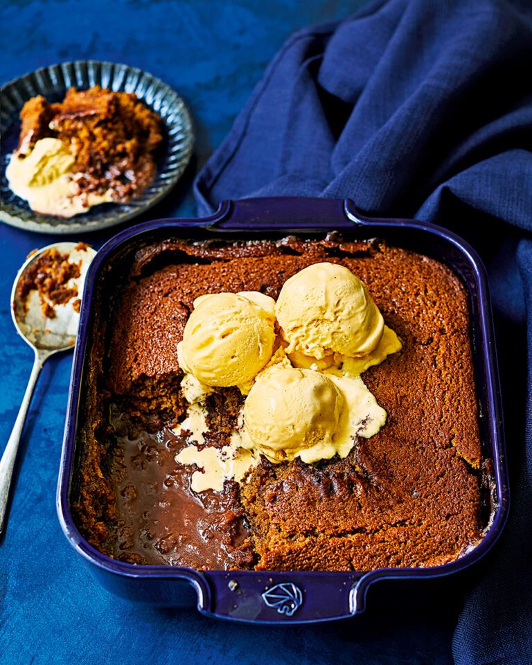
<svg viewBox="0 0 532 665">
<path fill-rule="evenodd" d="M 109 480 L 116 493 L 114 557 L 132 563 L 160 563 L 205 569 L 246 567 L 252 555 L 242 548 L 249 535 L 238 510 L 238 484 L 222 493 L 190 490 L 195 468 L 175 456 L 186 437 L 165 427 L 136 430 L 123 414 L 112 414 L 116 449 Z"/>
</svg>

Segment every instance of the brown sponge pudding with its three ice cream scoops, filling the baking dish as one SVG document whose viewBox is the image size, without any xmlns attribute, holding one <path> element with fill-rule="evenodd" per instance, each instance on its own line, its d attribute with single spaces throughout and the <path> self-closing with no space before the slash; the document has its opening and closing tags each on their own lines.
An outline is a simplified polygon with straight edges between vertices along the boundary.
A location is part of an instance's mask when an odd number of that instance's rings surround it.
<svg viewBox="0 0 532 665">
<path fill-rule="evenodd" d="M 109 307 L 72 496 L 103 553 L 368 571 L 482 538 L 468 296 L 442 263 L 336 235 L 168 239 L 134 253 Z"/>
</svg>

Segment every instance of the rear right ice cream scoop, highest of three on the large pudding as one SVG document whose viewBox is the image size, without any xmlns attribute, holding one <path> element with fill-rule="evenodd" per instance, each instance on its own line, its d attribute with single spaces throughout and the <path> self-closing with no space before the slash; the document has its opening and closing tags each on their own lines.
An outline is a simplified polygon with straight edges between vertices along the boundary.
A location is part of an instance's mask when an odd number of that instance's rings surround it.
<svg viewBox="0 0 532 665">
<path fill-rule="evenodd" d="M 366 285 L 337 263 L 315 263 L 287 279 L 276 303 L 286 352 L 316 360 L 370 353 L 384 320 Z"/>
</svg>

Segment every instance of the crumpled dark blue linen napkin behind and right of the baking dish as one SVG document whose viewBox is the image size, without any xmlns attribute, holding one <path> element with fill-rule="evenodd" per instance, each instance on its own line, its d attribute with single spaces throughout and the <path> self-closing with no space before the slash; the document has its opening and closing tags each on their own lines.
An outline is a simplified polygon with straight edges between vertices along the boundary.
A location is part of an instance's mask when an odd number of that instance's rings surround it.
<svg viewBox="0 0 532 665">
<path fill-rule="evenodd" d="M 294 35 L 195 181 L 198 211 L 349 197 L 436 222 L 488 267 L 512 507 L 452 644 L 457 664 L 532 663 L 532 4 L 389 0 Z M 528 371 L 527 366 L 528 355 Z"/>
</svg>

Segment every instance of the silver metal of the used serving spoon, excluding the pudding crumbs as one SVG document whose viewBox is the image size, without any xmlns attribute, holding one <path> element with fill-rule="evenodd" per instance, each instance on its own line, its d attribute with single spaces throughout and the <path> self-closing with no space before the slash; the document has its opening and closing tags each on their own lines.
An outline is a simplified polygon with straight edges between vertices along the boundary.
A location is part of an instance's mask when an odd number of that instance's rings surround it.
<svg viewBox="0 0 532 665">
<path fill-rule="evenodd" d="M 0 534 L 5 525 L 9 488 L 13 468 L 15 467 L 15 459 L 17 459 L 17 450 L 35 384 L 37 384 L 37 378 L 39 378 L 42 366 L 51 355 L 60 351 L 70 351 L 73 349 L 76 342 L 79 320 L 79 314 L 74 309 L 72 303 L 57 305 L 54 308 L 55 317 L 52 319 L 46 317 L 42 312 L 42 302 L 39 299 L 37 290 L 31 290 L 27 298 L 24 298 L 26 302 L 22 303 L 17 287 L 22 276 L 26 274 L 30 266 L 45 251 L 48 251 L 48 249 L 57 249 L 61 254 L 69 254 L 70 263 L 82 262 L 80 267 L 81 274 L 76 278 L 76 285 L 78 285 L 79 292 L 78 297 L 80 297 L 85 272 L 96 252 L 90 247 L 87 247 L 87 249 L 76 249 L 77 246 L 78 243 L 76 242 L 57 242 L 39 249 L 39 251 L 32 254 L 26 260 L 26 263 L 19 270 L 13 283 L 11 292 L 11 317 L 19 335 L 33 348 L 35 360 L 33 361 L 33 369 L 26 393 L 24 393 L 19 415 L 17 416 L 17 420 L 15 420 L 8 445 L 6 445 L 6 450 L 4 450 L 2 459 L 0 460 Z"/>
</svg>

